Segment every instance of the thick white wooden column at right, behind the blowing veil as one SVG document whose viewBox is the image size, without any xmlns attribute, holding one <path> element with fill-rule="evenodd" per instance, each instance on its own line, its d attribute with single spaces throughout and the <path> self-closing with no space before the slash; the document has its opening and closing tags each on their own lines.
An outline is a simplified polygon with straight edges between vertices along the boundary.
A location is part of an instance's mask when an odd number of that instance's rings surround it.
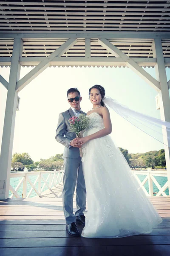
<svg viewBox="0 0 170 256">
<path fill-rule="evenodd" d="M 167 76 L 164 64 L 164 56 L 162 51 L 161 39 L 155 39 L 153 42 L 153 57 L 157 58 L 157 64 L 155 66 L 157 80 L 160 82 L 161 98 L 160 99 L 160 114 L 161 119 L 170 122 L 170 97 L 168 91 Z M 162 130 L 164 134 L 164 143 L 168 145 L 167 131 Z M 164 145 L 165 159 L 167 165 L 167 179 L 170 192 L 170 144 L 169 147 Z"/>
</svg>

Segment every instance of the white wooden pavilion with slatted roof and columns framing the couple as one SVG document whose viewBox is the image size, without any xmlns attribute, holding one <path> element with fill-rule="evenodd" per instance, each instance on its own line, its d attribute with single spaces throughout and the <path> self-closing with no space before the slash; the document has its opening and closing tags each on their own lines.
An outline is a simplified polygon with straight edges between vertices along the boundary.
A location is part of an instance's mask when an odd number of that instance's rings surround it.
<svg viewBox="0 0 170 256">
<path fill-rule="evenodd" d="M 0 1 L 0 66 L 10 66 L 0 156 L 0 199 L 8 198 L 18 92 L 50 66 L 129 67 L 158 93 L 170 122 L 170 1 Z M 20 79 L 21 66 L 34 67 Z M 154 67 L 157 79 L 143 67 Z M 166 135 L 166 131 L 165 131 Z M 167 140 L 165 138 L 165 144 Z M 165 146 L 170 189 L 170 148 Z"/>
</svg>

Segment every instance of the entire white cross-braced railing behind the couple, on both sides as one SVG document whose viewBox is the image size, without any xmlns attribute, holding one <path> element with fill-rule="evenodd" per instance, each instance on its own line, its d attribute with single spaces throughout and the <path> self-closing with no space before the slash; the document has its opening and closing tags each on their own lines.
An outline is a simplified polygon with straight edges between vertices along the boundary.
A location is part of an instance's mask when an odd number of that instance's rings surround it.
<svg viewBox="0 0 170 256">
<path fill-rule="evenodd" d="M 163 195 L 166 196 L 165 190 L 168 188 L 168 183 L 166 182 L 164 186 L 160 186 L 158 181 L 154 176 L 160 176 L 160 177 L 167 177 L 166 171 L 152 171 L 152 169 L 147 169 L 147 171 L 133 171 L 133 175 L 136 177 L 136 180 L 139 182 L 140 187 L 144 190 L 145 194 L 147 196 L 153 196 L 153 194 L 156 194 L 156 196 Z M 46 178 L 43 177 L 44 175 L 48 175 Z M 23 192 L 22 197 L 23 198 L 29 198 L 32 191 L 34 191 L 39 197 L 42 195 L 42 192 L 47 186 L 48 189 L 53 189 L 54 187 L 57 187 L 59 185 L 62 185 L 62 179 L 63 179 L 64 171 L 52 171 L 52 172 L 22 172 L 22 173 L 11 173 L 11 178 L 14 177 L 21 177 L 19 180 L 16 188 L 13 188 L 11 185 L 9 187 L 9 190 L 11 191 L 11 196 L 9 198 L 21 198 L 20 195 L 18 195 L 18 190 L 21 188 L 21 185 L 23 184 Z M 138 175 L 146 175 L 143 181 L 140 181 Z M 31 176 L 37 176 L 34 183 L 30 180 L 29 177 Z M 148 180 L 148 188 L 149 193 L 144 187 L 144 184 Z M 38 188 L 36 188 L 36 185 L 38 183 Z M 159 189 L 159 192 L 153 191 L 153 183 L 157 186 Z M 28 184 L 30 184 L 31 189 L 28 190 Z"/>
</svg>

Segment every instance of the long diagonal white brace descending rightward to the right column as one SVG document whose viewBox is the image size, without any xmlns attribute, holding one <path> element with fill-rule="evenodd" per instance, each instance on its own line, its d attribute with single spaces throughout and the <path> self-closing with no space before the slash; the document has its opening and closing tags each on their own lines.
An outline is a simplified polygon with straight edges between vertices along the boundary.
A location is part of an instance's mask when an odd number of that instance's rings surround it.
<svg viewBox="0 0 170 256">
<path fill-rule="evenodd" d="M 152 86 L 155 90 L 160 90 L 160 84 L 159 81 L 154 79 L 152 76 L 150 76 L 149 73 L 147 73 L 142 67 L 139 67 L 139 65 L 133 61 L 131 58 L 129 58 L 124 52 L 119 50 L 116 46 L 111 44 L 107 39 L 99 39 L 99 44 L 101 44 L 103 47 L 108 49 L 109 52 L 111 52 L 116 57 L 121 57 L 124 61 L 127 62 L 127 67 L 132 69 L 135 73 L 137 73 L 142 79 L 144 79 L 150 86 Z"/>
</svg>

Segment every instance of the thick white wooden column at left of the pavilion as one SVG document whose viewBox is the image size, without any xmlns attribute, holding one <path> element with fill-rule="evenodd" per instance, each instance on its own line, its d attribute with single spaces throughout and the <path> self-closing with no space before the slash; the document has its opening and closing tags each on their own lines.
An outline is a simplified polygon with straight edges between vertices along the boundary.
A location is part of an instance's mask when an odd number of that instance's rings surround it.
<svg viewBox="0 0 170 256">
<path fill-rule="evenodd" d="M 22 39 L 14 39 L 0 154 L 0 199 L 7 199 L 9 194 L 12 146 L 14 139 L 15 115 L 17 109 L 16 84 L 20 78 L 19 58 L 22 56 L 22 51 Z"/>
</svg>

